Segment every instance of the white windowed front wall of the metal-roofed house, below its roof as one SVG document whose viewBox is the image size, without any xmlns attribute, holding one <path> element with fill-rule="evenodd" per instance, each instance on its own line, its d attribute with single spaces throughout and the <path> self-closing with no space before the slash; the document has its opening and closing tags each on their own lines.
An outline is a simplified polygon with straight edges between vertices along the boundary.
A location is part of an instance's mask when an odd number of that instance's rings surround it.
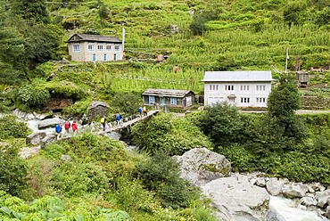
<svg viewBox="0 0 330 221">
<path fill-rule="evenodd" d="M 234 86 L 234 90 L 226 90 L 226 86 L 227 89 L 228 86 Z M 267 107 L 270 91 L 270 82 L 205 82 L 204 105 L 208 106 L 218 101 L 228 102 L 237 107 Z M 235 94 L 236 97 L 229 99 L 227 96 L 231 94 Z"/>
</svg>

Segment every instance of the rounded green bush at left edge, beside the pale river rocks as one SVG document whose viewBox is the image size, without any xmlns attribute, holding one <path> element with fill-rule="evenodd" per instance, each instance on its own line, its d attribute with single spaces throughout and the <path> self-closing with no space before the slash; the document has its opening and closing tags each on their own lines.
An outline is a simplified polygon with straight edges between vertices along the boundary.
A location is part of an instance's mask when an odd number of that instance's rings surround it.
<svg viewBox="0 0 330 221">
<path fill-rule="evenodd" d="M 29 134 L 29 128 L 23 122 L 19 122 L 12 115 L 0 119 L 0 138 L 25 138 Z"/>
</svg>

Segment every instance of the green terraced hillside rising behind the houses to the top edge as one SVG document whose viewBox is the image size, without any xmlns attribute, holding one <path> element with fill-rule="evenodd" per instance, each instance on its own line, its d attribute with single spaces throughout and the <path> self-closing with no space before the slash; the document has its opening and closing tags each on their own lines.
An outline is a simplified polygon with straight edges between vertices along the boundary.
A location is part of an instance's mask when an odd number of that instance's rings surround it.
<svg viewBox="0 0 330 221">
<path fill-rule="evenodd" d="M 301 70 L 330 65 L 327 0 L 1 3 L 0 82 L 36 85 L 38 93 L 32 94 L 41 97 L 33 98 L 29 106 L 72 94 L 72 88 L 58 88 L 59 82 L 69 81 L 77 90 L 90 92 L 79 96 L 75 92 L 74 101 L 82 97 L 107 101 L 113 94 L 141 94 L 146 88 L 203 94 L 200 80 L 205 70 L 272 70 L 276 78 L 276 69 L 285 70 L 286 48 L 288 70 L 295 70 L 298 58 Z M 70 60 L 65 41 L 73 33 L 121 39 L 123 27 L 125 61 L 95 65 L 62 61 Z M 159 54 L 168 59 L 157 62 Z M 173 66 L 179 71 L 175 73 Z M 317 77 L 312 83 L 327 83 L 328 72 L 322 73 L 323 78 L 310 73 Z"/>
</svg>

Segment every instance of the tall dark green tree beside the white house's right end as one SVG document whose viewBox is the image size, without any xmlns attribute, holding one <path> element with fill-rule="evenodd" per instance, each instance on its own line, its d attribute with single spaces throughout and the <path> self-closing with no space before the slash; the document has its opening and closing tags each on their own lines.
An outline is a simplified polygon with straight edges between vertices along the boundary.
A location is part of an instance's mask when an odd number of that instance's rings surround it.
<svg viewBox="0 0 330 221">
<path fill-rule="evenodd" d="M 283 76 L 279 83 L 268 96 L 268 116 L 284 128 L 285 136 L 301 139 L 307 132 L 301 119 L 295 116 L 301 100 L 298 86 L 292 76 Z"/>
</svg>

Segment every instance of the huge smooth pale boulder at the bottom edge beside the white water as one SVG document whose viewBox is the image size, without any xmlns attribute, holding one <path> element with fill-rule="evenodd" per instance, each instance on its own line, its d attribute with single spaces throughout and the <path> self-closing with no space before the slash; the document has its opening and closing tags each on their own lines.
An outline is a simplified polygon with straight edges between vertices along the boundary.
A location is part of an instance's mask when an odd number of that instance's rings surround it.
<svg viewBox="0 0 330 221">
<path fill-rule="evenodd" d="M 267 220 L 269 195 L 266 189 L 249 183 L 248 179 L 223 177 L 205 184 L 203 193 L 219 209 L 222 221 Z"/>
</svg>

